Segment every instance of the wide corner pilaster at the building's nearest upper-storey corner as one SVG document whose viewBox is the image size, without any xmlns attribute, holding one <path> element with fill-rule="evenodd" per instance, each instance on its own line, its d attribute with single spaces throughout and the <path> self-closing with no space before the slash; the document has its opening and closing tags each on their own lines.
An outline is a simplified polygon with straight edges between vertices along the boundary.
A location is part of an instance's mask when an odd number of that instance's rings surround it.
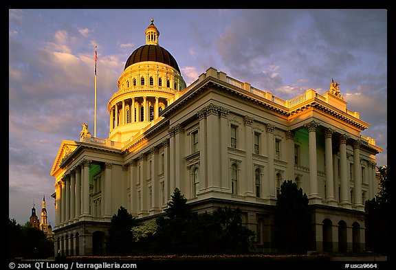
<svg viewBox="0 0 396 270">
<path fill-rule="evenodd" d="M 212 103 L 206 107 L 206 124 L 208 188 L 219 189 L 219 113 L 218 107 Z"/>
</svg>

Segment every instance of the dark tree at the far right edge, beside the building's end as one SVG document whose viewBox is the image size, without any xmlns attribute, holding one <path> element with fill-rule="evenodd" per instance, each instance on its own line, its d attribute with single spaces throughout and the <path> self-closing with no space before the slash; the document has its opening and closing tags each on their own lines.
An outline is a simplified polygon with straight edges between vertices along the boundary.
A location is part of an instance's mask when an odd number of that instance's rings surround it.
<svg viewBox="0 0 396 270">
<path fill-rule="evenodd" d="M 388 166 L 378 167 L 379 192 L 375 198 L 364 203 L 366 249 L 380 254 L 388 254 L 388 214 L 390 213 L 391 180 Z M 388 244 L 388 245 L 386 245 Z"/>
</svg>

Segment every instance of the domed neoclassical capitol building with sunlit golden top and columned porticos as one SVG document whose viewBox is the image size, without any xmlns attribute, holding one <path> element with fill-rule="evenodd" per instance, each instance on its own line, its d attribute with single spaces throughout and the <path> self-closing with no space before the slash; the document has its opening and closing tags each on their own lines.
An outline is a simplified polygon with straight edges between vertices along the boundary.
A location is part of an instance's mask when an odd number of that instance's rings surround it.
<svg viewBox="0 0 396 270">
<path fill-rule="evenodd" d="M 286 180 L 309 198 L 311 250 L 364 251 L 364 201 L 377 194 L 382 149 L 361 135 L 370 125 L 337 82 L 283 100 L 208 67 L 187 86 L 153 20 L 145 35 L 109 98 L 109 137 L 83 125 L 80 141 L 61 142 L 50 172 L 56 253 L 105 254 L 120 206 L 144 223 L 164 213 L 175 188 L 193 212 L 239 207 L 256 250 L 273 251 Z"/>
</svg>

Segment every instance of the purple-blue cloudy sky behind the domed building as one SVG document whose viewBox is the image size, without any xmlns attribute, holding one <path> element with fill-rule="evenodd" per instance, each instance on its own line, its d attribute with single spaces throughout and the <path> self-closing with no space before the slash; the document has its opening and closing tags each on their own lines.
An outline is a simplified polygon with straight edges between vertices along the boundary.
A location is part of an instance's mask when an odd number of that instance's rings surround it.
<svg viewBox="0 0 396 270">
<path fill-rule="evenodd" d="M 81 124 L 109 137 L 107 102 L 127 58 L 145 44 L 151 19 L 159 45 L 177 60 L 187 85 L 209 67 L 283 100 L 340 83 L 347 108 L 371 126 L 362 135 L 387 165 L 387 10 L 10 9 L 9 218 L 25 225 L 45 196 L 54 227 L 50 170 L 63 139 Z"/>
</svg>

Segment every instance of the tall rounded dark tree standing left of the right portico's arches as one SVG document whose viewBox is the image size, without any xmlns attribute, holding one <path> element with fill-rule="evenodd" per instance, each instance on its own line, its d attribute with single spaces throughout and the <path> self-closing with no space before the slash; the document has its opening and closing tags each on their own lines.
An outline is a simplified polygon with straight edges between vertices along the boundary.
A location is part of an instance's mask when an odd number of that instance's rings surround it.
<svg viewBox="0 0 396 270">
<path fill-rule="evenodd" d="M 292 180 L 284 181 L 276 201 L 275 236 L 285 254 L 306 254 L 312 237 L 307 194 Z"/>
</svg>

